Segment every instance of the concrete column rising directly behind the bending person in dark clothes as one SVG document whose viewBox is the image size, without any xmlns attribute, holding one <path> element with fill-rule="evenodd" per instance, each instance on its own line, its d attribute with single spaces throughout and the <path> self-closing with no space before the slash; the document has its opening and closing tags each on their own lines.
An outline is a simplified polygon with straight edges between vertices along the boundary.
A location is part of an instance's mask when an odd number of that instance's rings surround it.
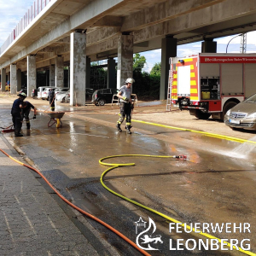
<svg viewBox="0 0 256 256">
<path fill-rule="evenodd" d="M 26 57 L 26 84 L 27 84 L 27 96 L 31 96 L 33 89 L 37 88 L 37 67 L 36 67 L 36 57 L 27 56 Z"/>
</svg>

